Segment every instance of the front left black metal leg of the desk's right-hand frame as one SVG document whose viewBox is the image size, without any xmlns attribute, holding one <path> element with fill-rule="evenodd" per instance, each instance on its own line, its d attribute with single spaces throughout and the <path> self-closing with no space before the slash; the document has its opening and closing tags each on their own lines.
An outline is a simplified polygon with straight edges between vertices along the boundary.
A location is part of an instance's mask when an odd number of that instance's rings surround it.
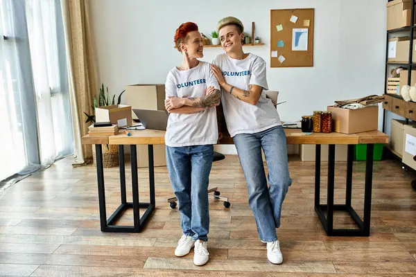
<svg viewBox="0 0 416 277">
<path fill-rule="evenodd" d="M 333 182 L 335 179 L 335 145 L 328 145 L 328 193 L 327 193 L 327 226 L 328 235 L 333 231 Z"/>
</svg>

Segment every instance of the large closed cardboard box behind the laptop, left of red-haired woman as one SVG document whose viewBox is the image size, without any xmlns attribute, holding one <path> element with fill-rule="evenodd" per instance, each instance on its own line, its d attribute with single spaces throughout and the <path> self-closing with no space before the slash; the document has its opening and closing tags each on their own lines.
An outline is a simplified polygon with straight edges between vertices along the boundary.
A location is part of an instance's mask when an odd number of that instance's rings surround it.
<svg viewBox="0 0 416 277">
<path fill-rule="evenodd" d="M 133 109 L 153 109 L 164 111 L 164 84 L 131 84 L 125 87 L 125 102 Z M 133 118 L 137 116 L 133 113 Z"/>
</svg>

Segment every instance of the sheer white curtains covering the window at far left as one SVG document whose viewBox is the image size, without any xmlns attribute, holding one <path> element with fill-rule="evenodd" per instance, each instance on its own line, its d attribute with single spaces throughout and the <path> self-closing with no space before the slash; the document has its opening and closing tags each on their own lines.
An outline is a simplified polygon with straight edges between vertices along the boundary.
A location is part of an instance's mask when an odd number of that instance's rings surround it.
<svg viewBox="0 0 416 277">
<path fill-rule="evenodd" d="M 0 191 L 73 152 L 59 0 L 0 0 L 0 118 Z"/>
</svg>

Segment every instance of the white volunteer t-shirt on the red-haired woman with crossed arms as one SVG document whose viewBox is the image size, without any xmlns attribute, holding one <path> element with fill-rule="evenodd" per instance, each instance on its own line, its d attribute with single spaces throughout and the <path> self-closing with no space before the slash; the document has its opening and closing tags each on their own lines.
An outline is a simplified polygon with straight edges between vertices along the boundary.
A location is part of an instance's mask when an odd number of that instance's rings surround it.
<svg viewBox="0 0 416 277">
<path fill-rule="evenodd" d="M 220 89 L 218 81 L 208 62 L 200 61 L 198 66 L 185 71 L 174 67 L 166 78 L 166 99 L 173 97 L 205 96 L 211 86 Z M 171 147 L 216 144 L 218 125 L 216 107 L 196 114 L 169 114 L 165 144 Z"/>
</svg>

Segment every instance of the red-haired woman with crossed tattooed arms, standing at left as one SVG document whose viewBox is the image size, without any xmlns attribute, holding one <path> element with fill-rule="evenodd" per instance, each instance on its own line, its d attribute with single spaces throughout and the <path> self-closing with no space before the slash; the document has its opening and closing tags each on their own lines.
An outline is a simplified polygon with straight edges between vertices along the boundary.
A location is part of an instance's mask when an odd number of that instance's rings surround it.
<svg viewBox="0 0 416 277">
<path fill-rule="evenodd" d="M 220 86 L 210 64 L 202 58 L 202 36 L 192 22 L 175 33 L 175 45 L 182 64 L 166 78 L 165 107 L 170 113 L 166 128 L 166 161 L 173 192 L 180 211 L 182 238 L 175 256 L 185 256 L 195 247 L 193 262 L 208 261 L 208 181 L 218 140 L 216 105 Z"/>
</svg>

